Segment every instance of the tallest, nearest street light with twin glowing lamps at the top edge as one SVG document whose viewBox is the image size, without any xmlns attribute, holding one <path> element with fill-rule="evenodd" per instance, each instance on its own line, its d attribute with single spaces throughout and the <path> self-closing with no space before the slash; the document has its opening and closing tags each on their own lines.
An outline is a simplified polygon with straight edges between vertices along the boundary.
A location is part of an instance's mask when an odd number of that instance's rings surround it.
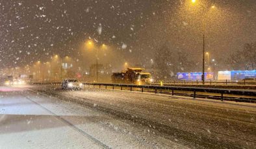
<svg viewBox="0 0 256 149">
<path fill-rule="evenodd" d="M 196 0 L 192 0 L 192 3 L 196 3 Z M 207 10 L 205 6 L 198 4 L 203 8 L 203 74 L 202 74 L 202 81 L 203 84 L 205 84 L 205 16 L 207 14 Z M 215 8 L 214 5 L 211 6 L 211 8 Z"/>
</svg>

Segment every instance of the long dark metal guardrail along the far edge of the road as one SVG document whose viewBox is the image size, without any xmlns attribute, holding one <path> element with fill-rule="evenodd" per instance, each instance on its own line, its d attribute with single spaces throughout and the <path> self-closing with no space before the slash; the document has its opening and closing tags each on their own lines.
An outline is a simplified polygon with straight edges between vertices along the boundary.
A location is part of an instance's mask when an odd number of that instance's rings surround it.
<svg viewBox="0 0 256 149">
<path fill-rule="evenodd" d="M 60 82 L 36 82 L 33 83 L 35 85 L 51 85 L 51 86 L 60 86 Z M 135 84 L 99 84 L 99 83 L 83 83 L 87 86 L 105 86 L 105 89 L 107 87 L 112 87 L 114 89 L 115 87 L 120 87 L 121 90 L 123 90 L 123 87 L 128 87 L 130 91 L 133 91 L 134 88 L 139 88 L 140 91 L 144 92 L 144 89 L 153 89 L 155 93 L 159 93 L 159 91 L 170 91 L 170 94 L 174 95 L 174 91 L 190 91 L 193 93 L 193 97 L 196 98 L 196 95 L 198 92 L 200 93 L 218 93 L 220 94 L 220 99 L 224 100 L 224 95 L 240 95 L 240 96 L 250 96 L 255 97 L 256 100 L 256 91 L 250 91 L 250 90 L 241 90 L 241 89 L 216 89 L 216 88 L 208 88 L 208 87 L 181 87 L 181 86 L 149 86 L 149 85 L 135 85 Z"/>
</svg>

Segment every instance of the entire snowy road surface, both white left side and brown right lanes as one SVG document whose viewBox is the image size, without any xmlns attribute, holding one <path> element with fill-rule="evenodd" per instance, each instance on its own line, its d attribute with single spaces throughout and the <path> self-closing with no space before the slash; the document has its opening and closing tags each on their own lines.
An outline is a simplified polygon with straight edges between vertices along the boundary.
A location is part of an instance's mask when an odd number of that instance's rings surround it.
<svg viewBox="0 0 256 149">
<path fill-rule="evenodd" d="M 1 87 L 0 93 L 6 148 L 256 146 L 256 104 L 49 86 Z"/>
</svg>

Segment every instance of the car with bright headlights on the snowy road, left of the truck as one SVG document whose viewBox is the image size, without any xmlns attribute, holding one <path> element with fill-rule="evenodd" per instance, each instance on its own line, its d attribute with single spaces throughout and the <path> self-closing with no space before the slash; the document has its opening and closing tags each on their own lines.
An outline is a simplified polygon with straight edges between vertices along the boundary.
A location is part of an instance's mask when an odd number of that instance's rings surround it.
<svg viewBox="0 0 256 149">
<path fill-rule="evenodd" d="M 83 89 L 83 84 L 77 79 L 64 79 L 61 84 L 62 89 Z"/>
</svg>

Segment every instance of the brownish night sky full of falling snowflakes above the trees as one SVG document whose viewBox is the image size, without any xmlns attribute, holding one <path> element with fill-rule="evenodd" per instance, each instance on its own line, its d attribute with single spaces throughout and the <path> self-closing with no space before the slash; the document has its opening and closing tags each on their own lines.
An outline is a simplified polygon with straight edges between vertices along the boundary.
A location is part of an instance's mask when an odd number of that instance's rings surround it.
<svg viewBox="0 0 256 149">
<path fill-rule="evenodd" d="M 83 55 L 85 40 L 110 45 L 123 62 L 148 63 L 164 43 L 201 58 L 201 14 L 180 0 L 1 0 L 0 67 Z M 209 5 L 211 1 L 206 1 Z M 216 0 L 207 13 L 206 51 L 219 61 L 256 39 L 255 0 Z M 100 32 L 101 30 L 101 32 Z M 90 53 L 89 53 L 90 54 Z M 79 57 L 80 55 L 80 57 Z M 116 61 L 112 59 L 112 62 Z M 199 61 L 201 62 L 201 61 Z"/>
</svg>

